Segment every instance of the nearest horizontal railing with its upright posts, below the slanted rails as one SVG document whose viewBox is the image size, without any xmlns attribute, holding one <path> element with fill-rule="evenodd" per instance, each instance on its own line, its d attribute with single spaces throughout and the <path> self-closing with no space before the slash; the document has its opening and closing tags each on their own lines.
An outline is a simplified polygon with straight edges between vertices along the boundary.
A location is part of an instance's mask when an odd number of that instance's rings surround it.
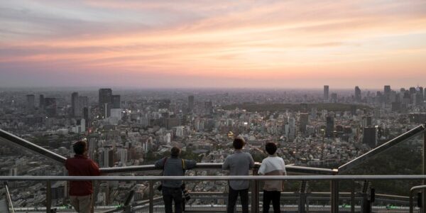
<svg viewBox="0 0 426 213">
<path fill-rule="evenodd" d="M 97 212 L 158 212 L 154 211 L 154 200 L 155 197 L 153 195 L 154 188 L 153 185 L 155 182 L 158 182 L 160 180 L 184 180 L 186 182 L 191 181 L 200 181 L 200 180 L 249 180 L 251 181 L 251 212 L 259 212 L 259 202 L 255 202 L 253 197 L 258 197 L 261 193 L 259 192 L 253 192 L 253 188 L 256 188 L 259 181 L 264 180 L 288 180 L 288 181 L 303 181 L 303 180 L 319 180 L 319 181 L 327 181 L 329 182 L 330 187 L 333 189 L 335 187 L 337 190 L 331 190 L 330 192 L 322 192 L 317 193 L 318 195 L 322 195 L 322 197 L 329 197 L 329 200 L 331 200 L 331 204 L 329 206 L 327 205 L 320 205 L 318 207 L 312 206 L 312 212 L 339 212 L 340 210 L 343 210 L 342 212 L 349 212 L 349 209 L 344 209 L 344 207 L 341 205 L 339 206 L 338 200 L 339 195 L 348 195 L 348 193 L 339 192 L 339 181 L 356 181 L 356 180 L 426 180 L 426 175 L 288 175 L 288 176 L 138 176 L 138 177 L 132 177 L 132 176 L 0 176 L 1 181 L 38 181 L 38 182 L 46 182 L 46 207 L 45 212 L 50 213 L 52 210 L 52 207 L 50 206 L 51 201 L 51 182 L 52 181 L 75 181 L 75 180 L 98 180 L 98 181 L 137 181 L 137 182 L 149 182 L 149 200 L 148 202 L 142 202 L 138 205 L 133 205 L 129 207 L 129 209 L 124 209 L 122 207 L 119 208 L 111 208 L 110 209 L 97 209 Z M 351 196 L 354 196 L 354 192 L 350 192 Z M 200 194 L 200 193 L 199 193 Z M 214 195 L 214 193 L 206 193 L 207 195 Z M 297 196 L 297 194 L 295 194 Z M 406 197 L 408 200 L 408 197 Z M 337 200 L 337 203 L 334 203 L 333 200 Z M 407 202 L 408 203 L 408 202 Z M 336 209 L 334 209 L 333 205 L 336 204 Z M 356 204 L 354 202 L 351 202 L 351 206 L 356 207 Z M 145 211 L 141 211 L 141 209 L 146 208 Z M 214 206 L 212 206 L 210 209 L 214 210 Z M 361 209 L 361 207 L 357 207 L 357 209 Z M 407 205 L 405 207 L 400 207 L 399 212 L 408 212 L 410 207 Z M 415 210 L 420 210 L 419 208 L 415 208 Z M 19 212 L 16 210 L 16 212 Z M 197 211 L 197 212 L 206 212 L 204 211 Z M 207 211 L 208 212 L 208 211 Z M 216 209 L 215 212 L 220 212 Z M 298 211 L 300 212 L 300 211 Z M 306 210 L 304 212 L 307 212 Z M 350 211 L 352 212 L 352 211 Z M 361 212 L 363 212 L 361 210 Z M 365 211 L 364 211 L 365 212 Z M 383 211 L 381 211 L 383 212 Z M 392 211 L 396 212 L 396 211 Z"/>
</svg>

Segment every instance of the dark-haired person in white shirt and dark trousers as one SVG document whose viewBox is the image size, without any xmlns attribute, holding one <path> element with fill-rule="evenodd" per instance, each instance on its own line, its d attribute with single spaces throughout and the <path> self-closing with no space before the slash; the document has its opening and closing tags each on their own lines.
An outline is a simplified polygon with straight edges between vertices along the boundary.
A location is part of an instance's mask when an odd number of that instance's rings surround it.
<svg viewBox="0 0 426 213">
<path fill-rule="evenodd" d="M 259 175 L 287 175 L 283 158 L 276 155 L 277 146 L 275 143 L 266 143 L 265 146 L 268 157 L 262 160 Z M 263 185 L 263 213 L 269 212 L 269 205 L 272 201 L 273 212 L 280 212 L 280 197 L 284 190 L 283 180 L 266 180 Z"/>
</svg>

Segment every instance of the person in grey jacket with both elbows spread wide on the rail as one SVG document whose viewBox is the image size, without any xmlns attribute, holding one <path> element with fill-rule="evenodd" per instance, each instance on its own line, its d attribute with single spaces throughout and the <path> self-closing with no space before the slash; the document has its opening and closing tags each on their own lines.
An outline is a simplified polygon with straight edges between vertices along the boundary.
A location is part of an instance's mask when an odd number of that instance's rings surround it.
<svg viewBox="0 0 426 213">
<path fill-rule="evenodd" d="M 162 158 L 155 162 L 155 168 L 163 169 L 163 176 L 184 176 L 185 170 L 195 168 L 195 160 L 179 158 L 180 148 L 173 147 L 170 158 Z M 172 203 L 175 202 L 175 213 L 182 213 L 182 180 L 164 180 L 162 182 L 165 213 L 173 213 Z"/>
</svg>

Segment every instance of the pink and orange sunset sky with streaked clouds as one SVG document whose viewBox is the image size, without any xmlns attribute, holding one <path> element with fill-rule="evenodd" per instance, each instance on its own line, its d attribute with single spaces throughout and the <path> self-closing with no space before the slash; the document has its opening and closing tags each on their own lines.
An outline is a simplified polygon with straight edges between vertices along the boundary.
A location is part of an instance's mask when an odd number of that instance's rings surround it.
<svg viewBox="0 0 426 213">
<path fill-rule="evenodd" d="M 426 1 L 1 1 L 0 87 L 426 86 Z"/>
</svg>

